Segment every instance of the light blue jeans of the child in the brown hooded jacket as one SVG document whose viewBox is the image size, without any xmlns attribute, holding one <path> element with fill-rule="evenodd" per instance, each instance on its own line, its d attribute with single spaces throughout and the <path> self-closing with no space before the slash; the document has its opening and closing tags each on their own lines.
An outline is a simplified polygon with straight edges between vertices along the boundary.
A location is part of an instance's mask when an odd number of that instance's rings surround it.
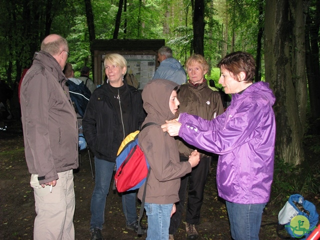
<svg viewBox="0 0 320 240">
<path fill-rule="evenodd" d="M 145 240 L 169 239 L 169 226 L 172 206 L 173 203 L 144 203 L 144 209 L 146 211 L 148 221 L 148 229 Z"/>
</svg>

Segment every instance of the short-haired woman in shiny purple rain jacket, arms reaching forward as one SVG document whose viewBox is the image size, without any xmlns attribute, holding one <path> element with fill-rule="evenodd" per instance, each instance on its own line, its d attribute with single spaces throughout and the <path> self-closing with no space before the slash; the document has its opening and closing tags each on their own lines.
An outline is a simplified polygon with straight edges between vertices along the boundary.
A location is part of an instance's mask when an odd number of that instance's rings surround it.
<svg viewBox="0 0 320 240">
<path fill-rule="evenodd" d="M 226 201 L 231 236 L 255 240 L 273 177 L 275 97 L 268 83 L 252 83 L 255 62 L 249 53 L 230 53 L 218 67 L 219 83 L 232 94 L 226 111 L 212 120 L 181 113 L 178 121 L 171 120 L 162 129 L 220 155 L 216 182 Z"/>
</svg>

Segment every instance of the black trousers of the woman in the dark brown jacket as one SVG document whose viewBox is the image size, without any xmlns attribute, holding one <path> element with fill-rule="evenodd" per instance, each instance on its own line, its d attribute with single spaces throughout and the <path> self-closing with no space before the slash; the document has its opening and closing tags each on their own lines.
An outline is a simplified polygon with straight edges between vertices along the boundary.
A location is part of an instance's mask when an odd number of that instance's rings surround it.
<svg viewBox="0 0 320 240">
<path fill-rule="evenodd" d="M 180 156 L 180 161 L 187 161 L 188 158 Z M 181 177 L 179 189 L 179 202 L 175 203 L 175 213 L 170 219 L 169 234 L 174 234 L 178 229 L 184 209 L 185 194 L 188 188 L 187 206 L 185 221 L 190 224 L 198 224 L 200 221 L 200 209 L 203 202 L 203 191 L 206 177 L 209 172 L 210 157 L 201 158 L 199 164 L 192 168 L 192 171 Z"/>
</svg>

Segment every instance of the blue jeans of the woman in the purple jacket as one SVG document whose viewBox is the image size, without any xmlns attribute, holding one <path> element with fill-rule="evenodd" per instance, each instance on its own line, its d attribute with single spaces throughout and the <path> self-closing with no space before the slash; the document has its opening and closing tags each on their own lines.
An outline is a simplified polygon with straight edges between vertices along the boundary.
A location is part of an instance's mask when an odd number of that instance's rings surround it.
<svg viewBox="0 0 320 240">
<path fill-rule="evenodd" d="M 258 240 L 263 208 L 266 203 L 239 204 L 225 201 L 231 236 L 235 240 Z"/>
</svg>

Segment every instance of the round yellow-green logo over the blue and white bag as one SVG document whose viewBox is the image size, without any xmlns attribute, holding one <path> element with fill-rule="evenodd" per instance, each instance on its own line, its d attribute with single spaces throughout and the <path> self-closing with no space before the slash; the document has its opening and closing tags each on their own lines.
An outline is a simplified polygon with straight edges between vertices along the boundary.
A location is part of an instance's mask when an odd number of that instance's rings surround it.
<svg viewBox="0 0 320 240">
<path fill-rule="evenodd" d="M 304 234 L 311 232 L 316 226 L 309 229 L 310 222 L 308 218 L 303 215 L 294 216 L 290 224 L 286 224 L 285 227 L 289 227 L 292 231 L 292 235 L 296 238 L 301 238 Z"/>
</svg>

